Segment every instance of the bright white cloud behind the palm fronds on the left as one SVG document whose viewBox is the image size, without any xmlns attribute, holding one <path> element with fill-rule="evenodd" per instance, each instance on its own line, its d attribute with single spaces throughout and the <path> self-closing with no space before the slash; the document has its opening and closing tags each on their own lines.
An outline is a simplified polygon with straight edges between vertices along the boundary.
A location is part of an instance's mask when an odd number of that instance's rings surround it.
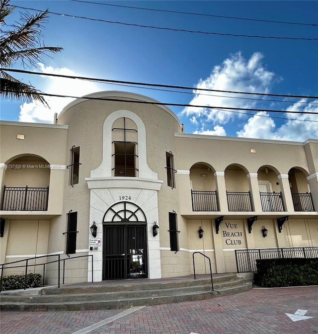
<svg viewBox="0 0 318 334">
<path fill-rule="evenodd" d="M 77 75 L 67 68 L 54 69 L 53 67 L 45 67 L 43 64 L 38 65 L 43 73 L 67 76 Z M 43 88 L 39 84 L 36 87 L 49 94 L 82 96 L 99 90 L 96 83 L 90 83 L 83 80 L 47 76 L 43 76 L 43 78 L 45 83 L 43 84 L 43 81 L 40 82 Z M 50 109 L 36 101 L 23 103 L 20 106 L 19 121 L 52 123 L 54 113 L 60 113 L 68 103 L 74 100 L 74 98 L 45 96 L 45 100 L 49 104 Z"/>
</svg>

